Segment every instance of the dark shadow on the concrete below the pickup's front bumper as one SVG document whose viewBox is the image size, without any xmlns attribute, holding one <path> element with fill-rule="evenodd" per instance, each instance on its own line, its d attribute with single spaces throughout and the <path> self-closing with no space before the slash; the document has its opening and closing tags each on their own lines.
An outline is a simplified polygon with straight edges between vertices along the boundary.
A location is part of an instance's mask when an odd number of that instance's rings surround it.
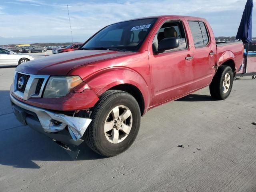
<svg viewBox="0 0 256 192">
<path fill-rule="evenodd" d="M 9 91 L 0 91 L 1 106 L 8 108 L 0 115 L 4 121 L 10 109 Z M 10 114 L 10 113 L 9 113 Z M 40 168 L 43 161 L 73 161 L 66 151 L 50 138 L 34 131 L 28 126 L 14 126 L 13 118 L 0 129 L 0 164 L 16 168 Z M 1 122 L 0 122 L 1 123 Z M 17 124 L 17 122 L 16 122 Z M 0 124 L 1 126 L 1 124 Z M 77 160 L 100 159 L 102 156 L 93 152 L 85 142 L 78 147 Z M 39 161 L 37 164 L 35 161 Z"/>
</svg>

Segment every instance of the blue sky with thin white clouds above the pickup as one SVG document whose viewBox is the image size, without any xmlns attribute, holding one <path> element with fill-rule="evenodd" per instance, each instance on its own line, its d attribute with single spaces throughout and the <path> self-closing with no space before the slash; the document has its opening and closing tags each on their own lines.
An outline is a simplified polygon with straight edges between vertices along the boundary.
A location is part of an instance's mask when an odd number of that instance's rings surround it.
<svg viewBox="0 0 256 192">
<path fill-rule="evenodd" d="M 0 44 L 84 42 L 106 25 L 156 15 L 206 18 L 215 36 L 236 36 L 246 0 L 0 0 Z M 252 36 L 256 37 L 256 0 Z"/>
</svg>

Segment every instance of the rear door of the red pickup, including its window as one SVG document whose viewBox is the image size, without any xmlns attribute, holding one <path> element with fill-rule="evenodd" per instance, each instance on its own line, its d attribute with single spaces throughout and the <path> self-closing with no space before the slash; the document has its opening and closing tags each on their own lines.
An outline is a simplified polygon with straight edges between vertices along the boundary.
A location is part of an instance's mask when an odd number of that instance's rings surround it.
<svg viewBox="0 0 256 192">
<path fill-rule="evenodd" d="M 192 38 L 192 49 L 194 50 L 194 89 L 207 86 L 212 81 L 216 64 L 216 43 L 214 37 L 210 36 L 205 22 L 188 20 Z"/>
</svg>

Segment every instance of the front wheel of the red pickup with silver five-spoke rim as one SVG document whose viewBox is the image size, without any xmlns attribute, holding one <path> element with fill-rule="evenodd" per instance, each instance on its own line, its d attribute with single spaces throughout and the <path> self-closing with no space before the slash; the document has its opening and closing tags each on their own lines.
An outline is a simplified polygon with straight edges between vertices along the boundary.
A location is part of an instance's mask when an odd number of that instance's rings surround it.
<svg viewBox="0 0 256 192">
<path fill-rule="evenodd" d="M 117 108 L 118 112 L 114 110 Z M 123 114 L 126 114 L 126 117 L 122 116 Z M 114 116 L 118 118 L 113 118 Z M 138 134 L 140 107 L 136 99 L 127 92 L 110 90 L 100 96 L 90 118 L 92 122 L 84 134 L 86 144 L 102 156 L 116 156 L 127 150 Z M 123 130 L 126 130 L 126 133 Z"/>
</svg>

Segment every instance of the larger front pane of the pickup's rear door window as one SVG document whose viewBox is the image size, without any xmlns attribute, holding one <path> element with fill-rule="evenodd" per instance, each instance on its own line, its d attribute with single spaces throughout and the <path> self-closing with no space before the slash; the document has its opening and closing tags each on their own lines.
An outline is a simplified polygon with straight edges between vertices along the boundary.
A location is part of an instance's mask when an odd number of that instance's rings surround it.
<svg viewBox="0 0 256 192">
<path fill-rule="evenodd" d="M 203 39 L 203 36 L 202 36 L 202 32 L 201 32 L 199 22 L 198 21 L 189 21 L 188 24 L 189 24 L 191 32 L 192 32 L 195 47 L 196 48 L 197 47 L 203 47 L 204 46 L 204 39 Z"/>
</svg>

